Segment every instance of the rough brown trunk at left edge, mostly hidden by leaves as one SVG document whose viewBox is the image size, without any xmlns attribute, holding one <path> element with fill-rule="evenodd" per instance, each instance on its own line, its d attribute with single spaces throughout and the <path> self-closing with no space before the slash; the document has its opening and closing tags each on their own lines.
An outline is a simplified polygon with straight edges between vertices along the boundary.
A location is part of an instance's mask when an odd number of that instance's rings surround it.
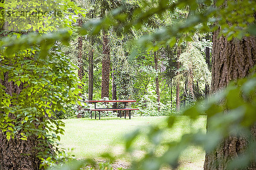
<svg viewBox="0 0 256 170">
<path fill-rule="evenodd" d="M 20 94 L 23 89 L 22 82 L 19 87 L 13 81 L 8 82 L 7 72 L 4 74 L 4 81 L 0 79 L 0 83 L 11 96 L 14 93 Z M 16 138 L 8 141 L 6 136 L 0 133 L 0 170 L 38 170 L 40 160 L 36 156 L 39 151 L 35 149 L 38 144 L 37 136 L 29 136 L 27 141 Z"/>
</svg>

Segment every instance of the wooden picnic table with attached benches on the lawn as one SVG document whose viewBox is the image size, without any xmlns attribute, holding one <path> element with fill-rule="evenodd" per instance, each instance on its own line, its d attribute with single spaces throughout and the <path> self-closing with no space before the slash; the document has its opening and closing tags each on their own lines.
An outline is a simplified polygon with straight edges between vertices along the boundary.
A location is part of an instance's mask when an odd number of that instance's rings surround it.
<svg viewBox="0 0 256 170">
<path fill-rule="evenodd" d="M 120 118 L 122 117 L 121 111 L 129 111 L 129 119 L 131 119 L 131 111 L 139 110 L 138 108 L 126 108 L 126 105 L 128 102 L 136 102 L 136 100 L 86 100 L 84 102 L 87 103 L 94 103 L 94 109 L 87 109 L 90 110 L 91 112 L 91 119 L 93 116 L 92 111 L 95 111 L 95 119 L 96 119 L 96 111 L 99 111 L 99 119 L 100 119 L 100 112 L 101 111 L 120 111 Z M 124 107 L 121 108 L 96 108 L 96 104 L 98 102 L 121 102 L 124 103 Z M 125 119 L 126 119 L 126 114 L 125 114 Z"/>
</svg>

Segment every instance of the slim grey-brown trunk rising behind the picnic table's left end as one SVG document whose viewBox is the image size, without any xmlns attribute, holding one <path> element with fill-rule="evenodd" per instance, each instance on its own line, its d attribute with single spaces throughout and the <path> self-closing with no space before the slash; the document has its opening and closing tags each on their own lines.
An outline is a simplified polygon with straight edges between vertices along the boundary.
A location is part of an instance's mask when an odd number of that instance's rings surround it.
<svg viewBox="0 0 256 170">
<path fill-rule="evenodd" d="M 93 47 L 93 38 L 90 37 L 90 44 Z M 93 99 L 93 48 L 91 47 L 89 51 L 89 56 L 88 56 L 88 62 L 89 62 L 89 67 L 88 67 L 88 94 L 89 100 Z"/>
</svg>

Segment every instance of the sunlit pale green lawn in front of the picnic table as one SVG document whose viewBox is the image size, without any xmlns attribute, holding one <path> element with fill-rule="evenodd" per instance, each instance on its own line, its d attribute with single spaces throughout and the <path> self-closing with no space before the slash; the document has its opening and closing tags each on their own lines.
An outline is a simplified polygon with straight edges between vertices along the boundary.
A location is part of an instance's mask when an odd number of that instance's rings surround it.
<svg viewBox="0 0 256 170">
<path fill-rule="evenodd" d="M 122 153 L 123 137 L 127 133 L 140 128 L 147 130 L 148 125 L 165 125 L 167 116 L 141 116 L 132 117 L 129 119 L 120 118 L 104 118 L 101 120 L 81 118 L 81 119 L 66 119 L 63 122 L 64 135 L 61 136 L 61 147 L 71 149 L 71 154 L 75 155 L 77 159 L 93 158 L 97 162 L 104 161 L 100 158 L 100 154 L 104 151 L 110 150 L 116 156 Z M 186 116 L 180 116 L 180 123 L 175 124 L 175 128 L 163 136 L 163 140 L 176 140 L 180 136 L 202 128 L 205 130 L 206 117 L 202 116 L 198 122 L 189 122 Z M 191 128 L 192 127 L 192 128 Z M 145 142 L 143 136 L 137 140 L 138 143 Z M 163 151 L 159 151 L 160 154 Z M 138 153 L 140 154 L 140 153 Z M 189 147 L 181 154 L 179 170 L 203 170 L 204 165 L 204 150 L 201 147 Z M 128 168 L 129 160 L 126 158 L 120 159 L 112 164 L 113 169 L 118 167 Z M 169 168 L 163 168 L 169 170 Z"/>
</svg>

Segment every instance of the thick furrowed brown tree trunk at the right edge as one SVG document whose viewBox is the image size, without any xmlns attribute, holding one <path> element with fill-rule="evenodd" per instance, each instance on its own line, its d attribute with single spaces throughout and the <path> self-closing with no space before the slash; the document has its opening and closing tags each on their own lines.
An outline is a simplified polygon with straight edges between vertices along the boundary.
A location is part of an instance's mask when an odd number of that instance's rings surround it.
<svg viewBox="0 0 256 170">
<path fill-rule="evenodd" d="M 212 83 L 210 93 L 225 88 L 227 84 L 241 77 L 247 76 L 250 68 L 256 64 L 256 38 L 243 37 L 242 40 L 227 40 L 227 37 L 218 37 L 220 30 L 213 33 L 212 47 Z M 255 127 L 251 132 L 256 135 Z M 214 151 L 206 153 L 204 170 L 225 170 L 227 161 L 236 158 L 247 145 L 245 138 L 230 136 L 218 144 Z M 245 169 L 256 169 L 251 164 Z"/>
</svg>

